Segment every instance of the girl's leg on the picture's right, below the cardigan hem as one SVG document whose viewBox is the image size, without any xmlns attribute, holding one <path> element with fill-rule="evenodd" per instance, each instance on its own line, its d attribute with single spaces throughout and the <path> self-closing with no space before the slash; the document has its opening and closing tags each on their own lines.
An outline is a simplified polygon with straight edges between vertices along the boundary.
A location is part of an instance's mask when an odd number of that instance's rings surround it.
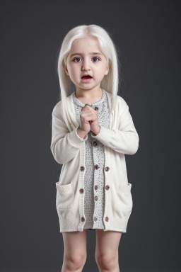
<svg viewBox="0 0 181 272">
<path fill-rule="evenodd" d="M 119 272 L 119 241 L 122 232 L 96 229 L 95 261 L 100 272 Z"/>
</svg>

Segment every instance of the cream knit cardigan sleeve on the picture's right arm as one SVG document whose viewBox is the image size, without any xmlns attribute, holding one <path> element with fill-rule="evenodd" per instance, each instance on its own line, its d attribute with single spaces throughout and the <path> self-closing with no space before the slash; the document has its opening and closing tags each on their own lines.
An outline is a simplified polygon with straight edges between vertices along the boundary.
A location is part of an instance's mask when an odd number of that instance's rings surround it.
<svg viewBox="0 0 181 272">
<path fill-rule="evenodd" d="M 122 111 L 119 113 L 119 128 L 109 129 L 100 125 L 98 135 L 91 136 L 98 139 L 103 145 L 122 154 L 133 155 L 139 148 L 139 135 L 136 132 L 129 106 L 122 98 Z"/>
</svg>

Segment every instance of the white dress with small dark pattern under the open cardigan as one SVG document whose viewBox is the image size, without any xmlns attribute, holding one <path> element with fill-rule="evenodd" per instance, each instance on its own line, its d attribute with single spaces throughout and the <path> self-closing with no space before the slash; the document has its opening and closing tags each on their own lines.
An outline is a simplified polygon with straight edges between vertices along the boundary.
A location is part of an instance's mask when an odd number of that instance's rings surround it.
<svg viewBox="0 0 181 272">
<path fill-rule="evenodd" d="M 104 89 L 100 101 L 91 106 L 98 111 L 98 122 L 105 128 L 110 128 L 110 109 L 107 101 L 107 94 Z M 81 103 L 73 94 L 73 102 L 76 113 L 76 120 L 80 125 L 80 113 L 85 104 Z M 105 153 L 104 145 L 91 136 L 88 132 L 88 139 L 85 141 L 86 172 L 84 176 L 84 212 L 86 222 L 83 229 L 105 229 L 103 212 L 105 209 Z"/>
</svg>

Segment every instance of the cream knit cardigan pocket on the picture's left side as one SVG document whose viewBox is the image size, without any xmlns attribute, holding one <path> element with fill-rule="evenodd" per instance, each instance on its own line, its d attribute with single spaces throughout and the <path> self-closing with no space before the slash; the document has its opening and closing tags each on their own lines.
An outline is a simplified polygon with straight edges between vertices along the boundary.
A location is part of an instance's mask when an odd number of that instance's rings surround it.
<svg viewBox="0 0 181 272">
<path fill-rule="evenodd" d="M 71 183 L 65 185 L 59 185 L 59 182 L 56 183 L 57 187 L 56 206 L 58 209 L 70 209 L 73 207 L 74 191 Z"/>
</svg>

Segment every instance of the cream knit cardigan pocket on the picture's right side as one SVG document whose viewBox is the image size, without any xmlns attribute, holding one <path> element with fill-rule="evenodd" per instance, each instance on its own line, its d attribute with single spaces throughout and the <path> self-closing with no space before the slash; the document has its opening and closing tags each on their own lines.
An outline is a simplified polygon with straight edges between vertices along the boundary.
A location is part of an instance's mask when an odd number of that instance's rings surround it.
<svg viewBox="0 0 181 272">
<path fill-rule="evenodd" d="M 131 215 L 133 200 L 131 193 L 132 183 L 119 183 L 115 209 L 120 218 L 125 219 Z"/>
</svg>

